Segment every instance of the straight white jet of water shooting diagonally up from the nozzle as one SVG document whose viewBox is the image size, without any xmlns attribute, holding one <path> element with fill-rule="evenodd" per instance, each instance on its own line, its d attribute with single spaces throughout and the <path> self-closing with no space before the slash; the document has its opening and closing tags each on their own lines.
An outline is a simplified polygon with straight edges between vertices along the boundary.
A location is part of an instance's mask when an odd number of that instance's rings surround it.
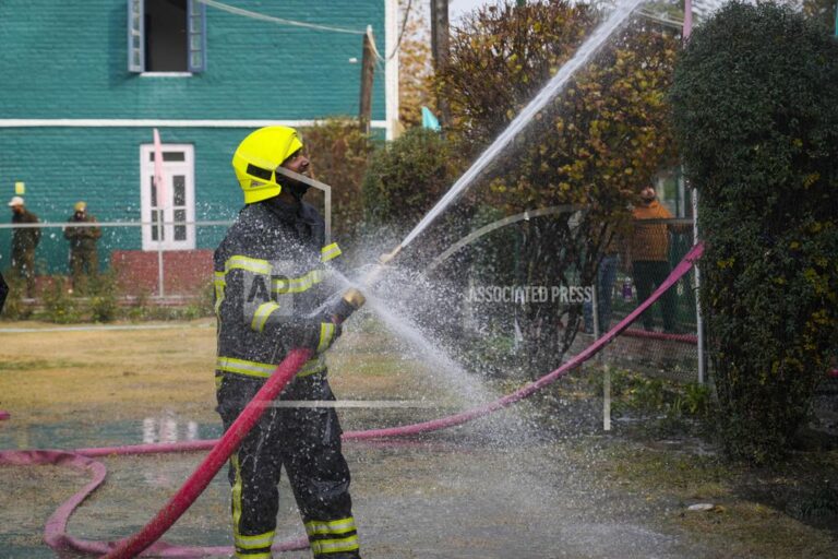
<svg viewBox="0 0 838 559">
<path fill-rule="evenodd" d="M 407 247 L 420 233 L 422 233 L 454 200 L 457 199 L 482 170 L 500 154 L 512 140 L 532 120 L 532 118 L 548 104 L 573 78 L 592 56 L 599 50 L 606 40 L 616 31 L 616 28 L 632 14 L 632 12 L 644 0 L 625 0 L 620 2 L 608 16 L 582 44 L 576 53 L 568 60 L 556 74 L 547 83 L 547 85 L 536 95 L 536 97 L 524 107 L 510 126 L 499 135 L 492 144 L 486 148 L 480 157 L 475 160 L 471 167 L 463 174 L 459 179 L 451 187 L 442 199 L 436 202 L 430 212 L 407 234 L 399 248 Z"/>
</svg>

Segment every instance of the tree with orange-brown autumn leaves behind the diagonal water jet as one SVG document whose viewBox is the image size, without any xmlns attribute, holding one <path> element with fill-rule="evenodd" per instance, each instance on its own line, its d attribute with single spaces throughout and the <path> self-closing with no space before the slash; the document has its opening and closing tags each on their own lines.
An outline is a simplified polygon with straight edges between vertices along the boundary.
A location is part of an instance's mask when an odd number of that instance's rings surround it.
<svg viewBox="0 0 838 559">
<path fill-rule="evenodd" d="M 583 3 L 481 8 L 451 40 L 444 81 L 456 151 L 477 156 L 575 52 L 601 14 Z M 580 213 L 530 219 L 517 254 L 525 285 L 591 285 L 626 207 L 672 160 L 666 93 L 675 39 L 634 21 L 556 95 L 486 177 L 483 203 L 504 214 L 573 204 Z M 561 361 L 580 304 L 525 304 L 534 373 Z"/>
</svg>

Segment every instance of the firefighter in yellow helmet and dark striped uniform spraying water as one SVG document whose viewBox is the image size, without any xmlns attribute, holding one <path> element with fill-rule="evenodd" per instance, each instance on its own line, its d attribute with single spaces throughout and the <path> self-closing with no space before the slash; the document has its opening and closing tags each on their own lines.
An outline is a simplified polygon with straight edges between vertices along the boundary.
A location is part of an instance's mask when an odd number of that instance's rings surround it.
<svg viewBox="0 0 838 559">
<path fill-rule="evenodd" d="M 324 352 L 340 335 L 340 322 L 362 304 L 350 289 L 334 308 L 318 312 L 328 302 L 328 269 L 340 249 L 324 246 L 323 218 L 302 201 L 307 187 L 274 170 L 309 173 L 297 132 L 252 132 L 232 166 L 246 205 L 214 257 L 217 411 L 225 430 L 294 347 L 309 347 L 314 357 L 278 400 L 334 401 Z M 271 558 L 282 468 L 314 557 L 360 557 L 340 433 L 334 407 L 265 411 L 230 456 L 236 557 Z"/>
</svg>

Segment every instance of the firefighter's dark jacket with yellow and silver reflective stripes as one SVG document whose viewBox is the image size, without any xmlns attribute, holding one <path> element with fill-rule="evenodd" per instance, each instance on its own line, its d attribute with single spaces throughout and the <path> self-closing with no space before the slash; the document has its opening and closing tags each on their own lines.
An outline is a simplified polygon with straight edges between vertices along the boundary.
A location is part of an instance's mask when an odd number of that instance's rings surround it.
<svg viewBox="0 0 838 559">
<path fill-rule="evenodd" d="M 298 346 L 316 352 L 298 378 L 325 369 L 322 352 L 335 325 L 321 309 L 330 295 L 324 263 L 340 249 L 323 246 L 324 229 L 306 203 L 291 207 L 271 199 L 239 213 L 214 258 L 217 381 L 229 373 L 267 378 Z"/>
</svg>

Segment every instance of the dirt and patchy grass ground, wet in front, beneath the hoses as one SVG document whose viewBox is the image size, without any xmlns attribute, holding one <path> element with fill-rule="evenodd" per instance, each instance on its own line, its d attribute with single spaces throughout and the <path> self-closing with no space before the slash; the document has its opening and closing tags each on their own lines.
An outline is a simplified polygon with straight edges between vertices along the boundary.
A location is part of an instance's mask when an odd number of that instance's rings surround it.
<svg viewBox="0 0 838 559">
<path fill-rule="evenodd" d="M 156 326 L 53 331 L 49 324 L 0 322 L 0 409 L 11 414 L 0 421 L 0 447 L 217 437 L 214 322 Z M 469 404 L 374 330 L 348 332 L 331 356 L 330 374 L 340 400 L 419 403 L 340 409 L 346 430 L 410 423 Z M 606 436 L 597 428 L 599 402 L 570 383 L 550 390 L 566 413 L 556 416 L 554 406 L 537 399 L 420 439 L 348 443 L 364 557 L 838 557 L 836 528 L 828 525 L 831 503 L 792 499 L 795 507 L 809 502 L 795 512 L 756 490 L 778 487 L 782 473 L 726 466 L 684 441 L 638 441 L 620 429 Z M 73 515 L 70 533 L 99 539 L 132 533 L 201 457 L 105 460 L 108 480 Z M 797 466 L 838 469 L 838 452 L 810 462 Z M 53 557 L 40 542 L 44 522 L 84 480 L 52 466 L 0 467 L 0 557 Z M 226 484 L 219 474 L 166 539 L 228 545 Z M 289 490 L 280 492 L 278 537 L 299 536 Z M 827 485 L 819 498 L 831 495 Z M 714 508 L 687 510 L 699 502 Z"/>
</svg>

